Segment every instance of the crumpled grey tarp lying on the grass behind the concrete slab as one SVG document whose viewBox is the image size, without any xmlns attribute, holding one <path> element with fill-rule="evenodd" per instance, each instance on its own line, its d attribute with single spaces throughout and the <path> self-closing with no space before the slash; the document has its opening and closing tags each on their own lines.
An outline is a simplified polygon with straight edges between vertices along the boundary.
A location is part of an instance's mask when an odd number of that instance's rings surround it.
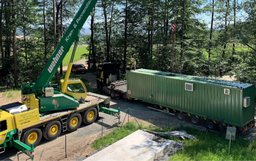
<svg viewBox="0 0 256 161">
<path fill-rule="evenodd" d="M 166 136 L 174 136 L 176 138 L 182 138 L 185 140 L 185 138 L 190 138 L 192 140 L 195 139 L 195 136 L 187 134 L 185 130 L 177 130 L 177 131 L 168 131 L 168 132 L 155 132 L 155 131 L 149 131 L 149 130 L 143 130 L 148 133 L 152 133 L 154 135 L 166 135 Z"/>
</svg>

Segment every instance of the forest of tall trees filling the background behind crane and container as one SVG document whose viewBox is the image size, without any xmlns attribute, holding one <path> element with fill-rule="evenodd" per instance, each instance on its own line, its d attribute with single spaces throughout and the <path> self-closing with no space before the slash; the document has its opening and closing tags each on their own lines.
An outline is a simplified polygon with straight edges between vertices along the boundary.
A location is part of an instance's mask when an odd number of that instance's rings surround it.
<svg viewBox="0 0 256 161">
<path fill-rule="evenodd" d="M 0 86 L 36 81 L 82 3 L 0 1 Z M 256 82 L 256 0 L 98 0 L 87 21 L 91 71 L 110 61 L 125 74 L 132 57 L 137 68 L 215 78 L 222 67 Z"/>
</svg>

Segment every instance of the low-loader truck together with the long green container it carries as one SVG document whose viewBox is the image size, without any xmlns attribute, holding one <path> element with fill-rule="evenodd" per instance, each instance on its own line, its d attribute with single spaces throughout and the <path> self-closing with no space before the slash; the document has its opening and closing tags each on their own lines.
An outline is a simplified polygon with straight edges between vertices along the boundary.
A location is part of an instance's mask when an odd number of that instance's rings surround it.
<svg viewBox="0 0 256 161">
<path fill-rule="evenodd" d="M 231 126 L 238 134 L 255 126 L 255 85 L 168 73 L 156 70 L 137 69 L 127 71 L 127 81 L 115 80 L 116 69 L 105 73 L 98 66 L 97 81 L 105 83 L 102 90 L 111 98 L 138 99 L 152 103 L 158 111 L 166 111 L 178 119 L 188 118 L 197 125 L 204 123 L 211 130 Z M 100 77 L 101 76 L 101 77 Z M 111 79 L 112 78 L 112 79 Z M 114 80 L 114 81 L 113 81 Z"/>
</svg>

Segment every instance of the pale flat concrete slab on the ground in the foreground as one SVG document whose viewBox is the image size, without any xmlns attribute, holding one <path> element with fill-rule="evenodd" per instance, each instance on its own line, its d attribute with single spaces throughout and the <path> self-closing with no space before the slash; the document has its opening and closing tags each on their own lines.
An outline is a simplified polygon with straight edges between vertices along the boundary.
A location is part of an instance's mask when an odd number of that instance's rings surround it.
<svg viewBox="0 0 256 161">
<path fill-rule="evenodd" d="M 152 141 L 154 137 L 154 134 L 138 130 L 84 161 L 154 161 L 174 143 L 172 140 L 157 143 Z"/>
</svg>

